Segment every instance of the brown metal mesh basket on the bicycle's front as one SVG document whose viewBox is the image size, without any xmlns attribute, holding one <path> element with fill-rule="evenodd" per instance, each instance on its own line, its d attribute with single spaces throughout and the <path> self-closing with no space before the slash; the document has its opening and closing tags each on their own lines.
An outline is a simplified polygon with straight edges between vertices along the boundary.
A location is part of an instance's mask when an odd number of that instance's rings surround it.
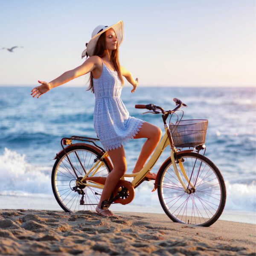
<svg viewBox="0 0 256 256">
<path fill-rule="evenodd" d="M 180 120 L 176 125 L 170 123 L 170 131 L 175 147 L 195 147 L 205 143 L 208 120 Z"/>
</svg>

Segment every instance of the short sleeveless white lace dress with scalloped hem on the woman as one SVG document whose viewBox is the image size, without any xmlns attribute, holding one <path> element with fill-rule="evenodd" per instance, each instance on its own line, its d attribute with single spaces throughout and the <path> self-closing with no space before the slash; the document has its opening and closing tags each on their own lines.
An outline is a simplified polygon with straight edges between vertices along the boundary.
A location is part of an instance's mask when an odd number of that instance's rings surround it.
<svg viewBox="0 0 256 256">
<path fill-rule="evenodd" d="M 129 115 L 122 99 L 122 83 L 117 71 L 110 70 L 102 61 L 99 79 L 93 78 L 95 93 L 94 128 L 106 151 L 121 147 L 132 139 L 143 125 L 143 120 Z"/>
</svg>

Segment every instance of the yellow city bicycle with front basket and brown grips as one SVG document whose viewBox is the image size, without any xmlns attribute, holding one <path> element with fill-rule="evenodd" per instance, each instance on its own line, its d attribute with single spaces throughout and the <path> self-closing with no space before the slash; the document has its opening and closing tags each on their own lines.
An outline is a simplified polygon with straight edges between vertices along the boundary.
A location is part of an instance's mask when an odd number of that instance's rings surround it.
<svg viewBox="0 0 256 256">
<path fill-rule="evenodd" d="M 176 108 L 169 111 L 153 104 L 135 105 L 135 108 L 149 110 L 145 113 L 162 113 L 165 134 L 140 172 L 123 175 L 108 205 L 129 204 L 134 199 L 134 189 L 148 180 L 145 176 L 170 145 L 170 157 L 158 170 L 152 192 L 157 190 L 160 204 L 172 221 L 208 227 L 218 220 L 226 202 L 221 172 L 211 160 L 199 154 L 206 150 L 208 120 L 179 119 L 175 112 L 187 105 L 179 99 L 173 100 Z M 169 115 L 170 121 L 173 115 L 177 116 L 175 124 L 166 123 Z M 73 143 L 74 140 L 82 143 Z M 85 207 L 93 211 L 99 203 L 106 177 L 113 166 L 108 152 L 96 141 L 99 139 L 79 136 L 61 139 L 62 150 L 56 154 L 52 169 L 52 190 L 66 212 L 85 210 Z M 189 149 L 180 149 L 185 147 Z M 134 179 L 130 182 L 125 177 Z"/>
</svg>

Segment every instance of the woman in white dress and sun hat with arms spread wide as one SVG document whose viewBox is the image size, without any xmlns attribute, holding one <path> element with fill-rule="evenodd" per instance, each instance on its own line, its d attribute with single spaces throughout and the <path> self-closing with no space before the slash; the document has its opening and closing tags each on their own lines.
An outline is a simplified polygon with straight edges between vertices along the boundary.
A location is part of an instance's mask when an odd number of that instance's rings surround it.
<svg viewBox="0 0 256 256">
<path fill-rule="evenodd" d="M 146 160 L 154 151 L 161 138 L 161 129 L 143 120 L 129 116 L 124 103 L 120 99 L 124 80 L 132 84 L 134 93 L 138 79 L 134 80 L 131 72 L 119 64 L 119 46 L 123 40 L 123 21 L 112 26 L 97 26 L 92 39 L 86 44 L 87 49 L 82 58 L 90 56 L 81 66 L 63 73 L 50 81 L 38 81 L 40 86 L 32 90 L 33 97 L 40 98 L 44 93 L 65 84 L 76 77 L 90 72 L 90 87 L 95 93 L 94 128 L 103 147 L 111 158 L 113 170 L 108 175 L 96 212 L 101 216 L 112 216 L 108 209 L 108 199 L 116 184 L 126 172 L 126 158 L 123 142 L 129 138 L 147 138 L 133 173 L 140 172 Z M 155 175 L 146 176 L 154 180 Z"/>
</svg>

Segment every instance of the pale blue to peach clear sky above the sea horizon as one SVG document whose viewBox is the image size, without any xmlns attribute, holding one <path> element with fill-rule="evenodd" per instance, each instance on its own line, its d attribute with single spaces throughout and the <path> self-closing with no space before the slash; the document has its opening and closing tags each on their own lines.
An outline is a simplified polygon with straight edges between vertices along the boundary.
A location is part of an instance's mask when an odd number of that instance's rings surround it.
<svg viewBox="0 0 256 256">
<path fill-rule="evenodd" d="M 256 86 L 255 0 L 0 0 L 0 49 L 23 46 L 0 50 L 0 85 L 80 66 L 93 29 L 119 20 L 119 61 L 139 86 Z"/>
</svg>

